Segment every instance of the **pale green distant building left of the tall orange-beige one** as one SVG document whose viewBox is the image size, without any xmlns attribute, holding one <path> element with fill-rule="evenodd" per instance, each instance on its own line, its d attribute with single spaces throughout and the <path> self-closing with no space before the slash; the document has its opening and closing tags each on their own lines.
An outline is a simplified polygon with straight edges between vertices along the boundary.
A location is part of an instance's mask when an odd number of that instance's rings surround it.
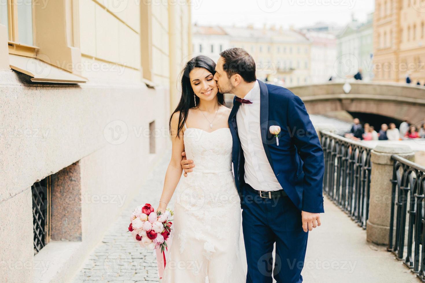
<svg viewBox="0 0 425 283">
<path fill-rule="evenodd" d="M 363 80 L 373 78 L 373 14 L 364 23 L 352 20 L 337 35 L 337 76 L 352 78 L 362 69 Z"/>
</svg>

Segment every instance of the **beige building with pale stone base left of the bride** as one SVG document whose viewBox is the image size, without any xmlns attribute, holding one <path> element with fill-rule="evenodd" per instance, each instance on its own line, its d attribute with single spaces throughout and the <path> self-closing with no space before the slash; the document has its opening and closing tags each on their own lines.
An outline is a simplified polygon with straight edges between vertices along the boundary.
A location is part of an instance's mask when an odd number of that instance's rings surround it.
<svg viewBox="0 0 425 283">
<path fill-rule="evenodd" d="M 68 282 L 170 146 L 190 2 L 0 6 L 0 278 Z"/>
</svg>

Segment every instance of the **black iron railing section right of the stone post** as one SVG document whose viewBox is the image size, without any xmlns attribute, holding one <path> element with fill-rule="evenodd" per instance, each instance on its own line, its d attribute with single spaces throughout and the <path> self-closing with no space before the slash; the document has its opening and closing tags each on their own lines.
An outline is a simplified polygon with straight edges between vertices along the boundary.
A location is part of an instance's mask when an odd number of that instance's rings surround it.
<svg viewBox="0 0 425 283">
<path fill-rule="evenodd" d="M 391 158 L 394 167 L 388 251 L 425 282 L 425 168 L 398 155 Z"/>
</svg>

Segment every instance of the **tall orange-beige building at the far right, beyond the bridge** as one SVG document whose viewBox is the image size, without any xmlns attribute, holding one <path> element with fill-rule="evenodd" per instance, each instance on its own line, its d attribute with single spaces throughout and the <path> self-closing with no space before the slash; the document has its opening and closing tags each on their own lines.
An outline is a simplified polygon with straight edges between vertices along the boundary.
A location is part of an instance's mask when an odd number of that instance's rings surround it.
<svg viewBox="0 0 425 283">
<path fill-rule="evenodd" d="M 425 83 L 423 1 L 377 0 L 374 17 L 374 79 Z"/>
</svg>

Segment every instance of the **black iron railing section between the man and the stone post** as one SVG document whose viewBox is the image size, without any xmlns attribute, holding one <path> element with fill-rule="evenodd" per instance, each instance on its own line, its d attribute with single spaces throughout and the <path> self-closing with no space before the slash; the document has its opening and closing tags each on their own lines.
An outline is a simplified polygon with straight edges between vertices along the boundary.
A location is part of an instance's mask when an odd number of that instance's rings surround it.
<svg viewBox="0 0 425 283">
<path fill-rule="evenodd" d="M 365 229 L 372 148 L 327 131 L 320 131 L 320 136 L 325 157 L 323 192 Z"/>
</svg>

